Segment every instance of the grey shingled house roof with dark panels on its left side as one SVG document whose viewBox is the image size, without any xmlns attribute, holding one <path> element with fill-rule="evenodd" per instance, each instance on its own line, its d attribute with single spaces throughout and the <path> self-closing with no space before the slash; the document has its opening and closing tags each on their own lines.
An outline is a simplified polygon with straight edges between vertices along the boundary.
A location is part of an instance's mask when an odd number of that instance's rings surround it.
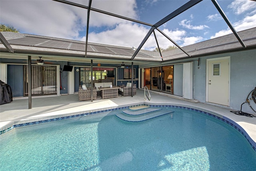
<svg viewBox="0 0 256 171">
<path fill-rule="evenodd" d="M 64 55 L 84 57 L 86 42 L 67 40 L 61 38 L 52 38 L 46 36 L 36 36 L 30 34 L 1 32 L 4 38 L 14 49 L 16 53 L 33 53 L 44 55 Z M 176 48 L 167 52 L 162 52 L 163 61 L 179 60 L 182 58 L 196 58 L 212 53 L 226 51 L 242 50 L 256 47 L 256 28 L 238 32 L 246 48 L 243 48 L 240 42 L 233 34 L 228 34 L 204 42 L 182 47 L 190 56 Z M 3 44 L 0 44 L 2 52 L 7 51 Z M 136 49 L 110 46 L 105 44 L 96 44 L 88 42 L 88 58 L 111 58 L 116 60 L 130 60 Z M 134 61 L 161 62 L 162 58 L 158 52 L 140 50 Z"/>
</svg>

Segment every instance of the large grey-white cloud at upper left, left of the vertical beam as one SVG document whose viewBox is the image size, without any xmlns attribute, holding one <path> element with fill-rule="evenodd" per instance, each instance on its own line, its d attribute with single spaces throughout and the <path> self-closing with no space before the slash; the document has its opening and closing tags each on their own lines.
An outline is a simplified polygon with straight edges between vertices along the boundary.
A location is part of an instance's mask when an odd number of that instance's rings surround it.
<svg viewBox="0 0 256 171">
<path fill-rule="evenodd" d="M 77 38 L 86 20 L 81 9 L 49 0 L 1 0 L 1 23 L 11 24 L 23 33 Z"/>
</svg>

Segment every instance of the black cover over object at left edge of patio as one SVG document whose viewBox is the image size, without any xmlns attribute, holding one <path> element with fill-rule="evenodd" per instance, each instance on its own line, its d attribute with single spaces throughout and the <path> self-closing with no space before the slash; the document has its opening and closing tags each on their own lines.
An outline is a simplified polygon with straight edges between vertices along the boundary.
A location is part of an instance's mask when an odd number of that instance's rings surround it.
<svg viewBox="0 0 256 171">
<path fill-rule="evenodd" d="M 2 82 L 0 80 L 1 90 L 0 90 L 0 105 L 5 103 L 10 103 L 12 101 L 12 89 L 10 85 Z"/>
</svg>

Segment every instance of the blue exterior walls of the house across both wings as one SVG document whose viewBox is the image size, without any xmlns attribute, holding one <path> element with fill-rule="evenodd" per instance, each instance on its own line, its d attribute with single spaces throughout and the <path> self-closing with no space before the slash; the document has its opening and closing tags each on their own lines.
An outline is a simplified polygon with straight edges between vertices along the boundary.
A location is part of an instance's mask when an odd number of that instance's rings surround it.
<svg viewBox="0 0 256 171">
<path fill-rule="evenodd" d="M 206 60 L 212 58 L 230 57 L 230 108 L 232 110 L 240 110 L 242 103 L 246 101 L 246 98 L 250 91 L 256 87 L 256 50 L 244 50 L 240 52 L 230 52 L 224 54 L 216 54 L 207 57 L 201 57 L 193 60 L 179 60 L 175 62 L 170 62 L 170 65 L 174 65 L 174 95 L 182 96 L 182 82 L 176 80 L 178 77 L 183 76 L 182 73 L 182 63 L 193 61 L 193 95 L 194 99 L 202 103 L 206 103 Z M 7 64 L 7 84 L 12 87 L 13 96 L 18 97 L 23 95 L 23 60 L 18 59 L 5 59 L 1 58 L 2 64 Z M 176 63 L 176 64 L 175 64 Z M 15 65 L 14 65 L 15 64 Z M 68 65 L 68 62 L 61 62 L 54 65 L 60 65 L 63 68 L 64 65 Z M 69 63 L 69 65 L 74 66 L 90 66 L 88 63 Z M 97 64 L 94 64 L 97 65 Z M 149 64 L 152 65 L 152 64 Z M 169 64 L 165 64 L 169 65 Z M 111 64 L 106 64 L 105 66 L 115 66 Z M 117 66 L 117 65 L 116 65 Z M 180 66 L 180 67 L 179 67 Z M 143 67 L 146 67 L 143 65 Z M 136 78 L 138 78 L 138 68 L 136 68 Z M 73 68 L 74 70 L 74 68 Z M 60 94 L 68 94 L 68 73 L 60 73 L 62 90 Z M 181 81 L 181 79 L 179 80 Z M 134 81 L 138 87 L 138 80 Z M 79 83 L 78 83 L 79 84 Z M 126 84 L 124 82 L 118 82 L 117 85 Z M 177 85 L 178 84 L 178 85 Z M 65 89 L 63 89 L 65 88 Z M 251 95 L 249 96 L 249 98 Z M 251 106 L 256 109 L 256 104 L 250 100 Z M 247 113 L 255 114 L 250 108 L 248 103 L 242 106 L 242 111 Z"/>
</svg>

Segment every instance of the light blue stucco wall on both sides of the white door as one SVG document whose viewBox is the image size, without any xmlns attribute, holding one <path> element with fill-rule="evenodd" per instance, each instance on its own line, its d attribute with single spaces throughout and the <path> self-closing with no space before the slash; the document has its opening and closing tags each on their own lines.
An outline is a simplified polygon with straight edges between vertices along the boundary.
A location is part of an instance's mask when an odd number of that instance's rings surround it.
<svg viewBox="0 0 256 171">
<path fill-rule="evenodd" d="M 230 56 L 230 108 L 240 110 L 246 101 L 248 93 L 256 87 L 256 50 L 246 50 L 226 54 L 212 55 L 194 61 L 194 98 L 206 102 L 206 59 Z M 249 98 L 251 95 L 249 96 Z M 250 101 L 254 110 L 256 104 Z M 242 106 L 242 111 L 254 113 L 248 104 Z M 255 113 L 254 113 L 255 114 Z"/>
</svg>

